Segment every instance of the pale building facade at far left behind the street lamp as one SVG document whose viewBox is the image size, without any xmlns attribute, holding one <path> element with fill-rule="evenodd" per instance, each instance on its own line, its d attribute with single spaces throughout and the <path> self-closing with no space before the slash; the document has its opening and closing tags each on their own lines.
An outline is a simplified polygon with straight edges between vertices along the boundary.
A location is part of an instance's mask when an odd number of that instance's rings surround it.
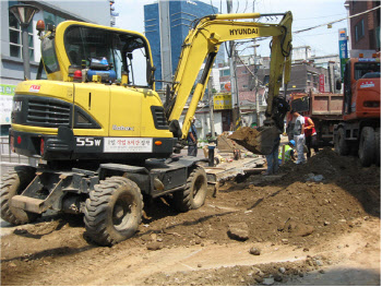
<svg viewBox="0 0 382 287">
<path fill-rule="evenodd" d="M 32 4 L 39 9 L 28 26 L 28 48 L 31 79 L 36 79 L 40 61 L 40 41 L 37 36 L 36 23 L 44 20 L 46 24 L 57 26 L 65 20 L 75 20 L 110 26 L 112 17 L 110 9 L 114 1 L 0 1 L 1 10 L 1 94 L 0 94 L 0 125 L 2 134 L 8 132 L 11 124 L 12 96 L 15 86 L 24 79 L 22 59 L 22 31 L 15 16 L 9 8 L 15 4 Z M 86 11 L 86 13 L 83 13 Z"/>
</svg>

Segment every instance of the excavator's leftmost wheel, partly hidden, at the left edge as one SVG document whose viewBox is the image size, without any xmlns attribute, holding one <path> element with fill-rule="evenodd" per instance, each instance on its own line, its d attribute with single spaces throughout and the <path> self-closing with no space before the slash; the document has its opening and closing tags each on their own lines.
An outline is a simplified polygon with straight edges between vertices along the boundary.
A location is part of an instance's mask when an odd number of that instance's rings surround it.
<svg viewBox="0 0 382 287">
<path fill-rule="evenodd" d="M 1 218 L 12 225 L 28 224 L 39 216 L 36 213 L 25 212 L 11 206 L 11 200 L 14 195 L 21 194 L 24 189 L 32 182 L 36 169 L 29 166 L 17 166 L 9 170 L 1 179 L 0 204 Z"/>
</svg>

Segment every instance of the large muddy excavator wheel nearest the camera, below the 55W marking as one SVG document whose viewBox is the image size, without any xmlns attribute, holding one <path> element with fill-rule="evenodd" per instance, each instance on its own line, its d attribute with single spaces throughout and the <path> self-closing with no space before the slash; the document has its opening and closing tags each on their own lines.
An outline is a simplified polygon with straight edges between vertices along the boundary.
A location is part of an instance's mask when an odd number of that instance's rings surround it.
<svg viewBox="0 0 382 287">
<path fill-rule="evenodd" d="M 112 246 L 135 234 L 142 211 L 143 198 L 135 182 L 123 177 L 107 178 L 86 200 L 86 231 L 98 244 Z"/>
</svg>

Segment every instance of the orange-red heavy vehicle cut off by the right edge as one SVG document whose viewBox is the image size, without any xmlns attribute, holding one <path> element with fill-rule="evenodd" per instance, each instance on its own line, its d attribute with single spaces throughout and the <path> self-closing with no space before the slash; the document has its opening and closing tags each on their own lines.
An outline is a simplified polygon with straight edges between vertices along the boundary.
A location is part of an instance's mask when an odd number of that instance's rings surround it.
<svg viewBox="0 0 382 287">
<path fill-rule="evenodd" d="M 334 125 L 334 147 L 339 155 L 358 154 L 365 167 L 380 166 L 381 59 L 377 53 L 359 56 L 345 65 L 343 117 Z"/>
</svg>

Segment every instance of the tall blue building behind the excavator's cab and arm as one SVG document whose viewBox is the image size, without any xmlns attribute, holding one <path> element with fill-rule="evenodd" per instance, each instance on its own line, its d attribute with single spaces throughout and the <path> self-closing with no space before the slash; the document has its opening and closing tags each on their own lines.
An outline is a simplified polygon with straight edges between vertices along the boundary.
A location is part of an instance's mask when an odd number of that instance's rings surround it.
<svg viewBox="0 0 382 287">
<path fill-rule="evenodd" d="M 159 0 L 144 7 L 145 36 L 152 47 L 156 80 L 171 81 L 192 21 L 217 13 L 217 8 L 192 0 Z M 162 88 L 162 83 L 157 83 L 156 87 Z"/>
</svg>

